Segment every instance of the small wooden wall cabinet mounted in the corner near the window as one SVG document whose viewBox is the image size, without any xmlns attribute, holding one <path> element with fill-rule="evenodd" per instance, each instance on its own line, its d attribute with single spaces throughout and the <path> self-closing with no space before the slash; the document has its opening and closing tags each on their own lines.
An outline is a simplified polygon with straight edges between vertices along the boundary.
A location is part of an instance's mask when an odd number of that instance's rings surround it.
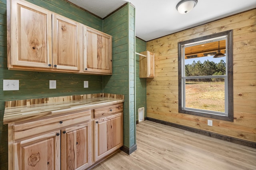
<svg viewBox="0 0 256 170">
<path fill-rule="evenodd" d="M 155 76 L 155 54 L 150 51 L 140 53 L 140 78 L 154 78 Z M 145 57 L 146 56 L 146 57 Z"/>
</svg>

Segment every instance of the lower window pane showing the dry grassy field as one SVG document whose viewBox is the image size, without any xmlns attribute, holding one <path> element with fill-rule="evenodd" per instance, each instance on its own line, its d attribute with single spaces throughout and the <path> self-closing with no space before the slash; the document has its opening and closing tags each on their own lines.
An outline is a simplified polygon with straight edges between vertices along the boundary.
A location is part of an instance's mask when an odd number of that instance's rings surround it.
<svg viewBox="0 0 256 170">
<path fill-rule="evenodd" d="M 224 78 L 186 79 L 187 108 L 225 112 Z"/>
</svg>

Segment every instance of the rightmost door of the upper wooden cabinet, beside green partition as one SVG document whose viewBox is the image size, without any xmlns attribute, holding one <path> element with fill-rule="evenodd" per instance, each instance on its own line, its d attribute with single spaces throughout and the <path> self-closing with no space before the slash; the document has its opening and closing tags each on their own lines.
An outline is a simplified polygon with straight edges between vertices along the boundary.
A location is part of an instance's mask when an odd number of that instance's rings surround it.
<svg viewBox="0 0 256 170">
<path fill-rule="evenodd" d="M 112 74 L 112 36 L 84 27 L 84 72 Z"/>
</svg>

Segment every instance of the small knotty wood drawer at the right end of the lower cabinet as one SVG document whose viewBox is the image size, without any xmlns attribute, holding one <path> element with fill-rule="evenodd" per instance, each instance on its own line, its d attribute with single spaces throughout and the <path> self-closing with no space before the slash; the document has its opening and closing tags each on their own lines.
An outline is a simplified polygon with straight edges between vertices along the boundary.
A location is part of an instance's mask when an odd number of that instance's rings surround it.
<svg viewBox="0 0 256 170">
<path fill-rule="evenodd" d="M 123 111 L 123 104 L 116 104 L 112 106 L 106 106 L 98 109 L 94 109 L 94 118 L 105 117 Z"/>
</svg>

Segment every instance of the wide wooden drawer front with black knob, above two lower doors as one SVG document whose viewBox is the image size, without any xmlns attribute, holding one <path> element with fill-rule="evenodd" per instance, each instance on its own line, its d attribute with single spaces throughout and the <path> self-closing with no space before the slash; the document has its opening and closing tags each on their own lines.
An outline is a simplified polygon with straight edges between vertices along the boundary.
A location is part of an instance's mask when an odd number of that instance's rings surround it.
<svg viewBox="0 0 256 170">
<path fill-rule="evenodd" d="M 22 123 L 13 126 L 14 140 L 38 135 L 40 133 L 54 131 L 62 129 L 64 127 L 75 125 L 77 123 L 84 123 L 90 120 L 91 111 L 82 111 L 79 113 L 72 113 L 69 115 L 62 115 L 58 117 L 52 117 L 42 119 L 38 121 L 32 121 L 28 123 Z"/>
</svg>

